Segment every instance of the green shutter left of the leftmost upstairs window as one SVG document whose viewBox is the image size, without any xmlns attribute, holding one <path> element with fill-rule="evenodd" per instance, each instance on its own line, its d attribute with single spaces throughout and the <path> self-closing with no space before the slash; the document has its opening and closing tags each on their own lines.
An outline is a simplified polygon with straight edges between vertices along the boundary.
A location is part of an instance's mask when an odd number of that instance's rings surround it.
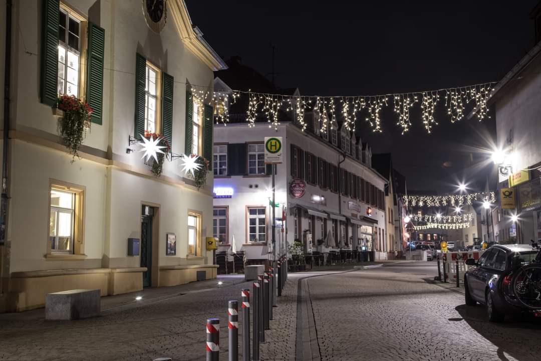
<svg viewBox="0 0 541 361">
<path fill-rule="evenodd" d="M 58 23 L 60 1 L 43 0 L 42 44 L 41 44 L 41 102 L 56 106 L 58 79 Z"/>
</svg>

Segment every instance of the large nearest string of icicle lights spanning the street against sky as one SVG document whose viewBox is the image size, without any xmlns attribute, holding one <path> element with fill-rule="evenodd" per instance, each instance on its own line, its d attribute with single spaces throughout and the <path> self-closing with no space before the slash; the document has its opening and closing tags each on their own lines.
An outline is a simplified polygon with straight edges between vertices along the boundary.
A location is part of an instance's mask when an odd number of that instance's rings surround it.
<svg viewBox="0 0 541 361">
<path fill-rule="evenodd" d="M 212 102 L 215 106 L 224 108 L 225 113 L 222 113 L 216 121 L 226 124 L 229 121 L 227 107 L 225 107 L 226 100 L 231 98 L 231 103 L 234 103 L 237 99 L 246 97 L 248 105 L 245 114 L 249 127 L 254 127 L 256 119 L 264 116 L 269 127 L 278 128 L 279 111 L 286 110 L 293 111 L 295 121 L 304 131 L 308 125 L 305 113 L 313 111 L 314 126 L 319 127 L 321 133 L 333 129 L 333 124 L 337 124 L 337 116 L 344 121 L 347 130 L 354 131 L 357 120 L 360 118 L 364 119 L 374 132 L 382 132 L 381 111 L 385 107 L 393 106 L 397 116 L 396 122 L 402 134 L 405 134 L 413 126 L 410 117 L 412 108 L 419 107 L 423 126 L 430 134 L 432 127 L 438 124 L 434 115 L 436 107 L 443 101 L 447 116 L 452 123 L 464 119 L 467 114 L 466 107 L 471 103 L 473 103 L 472 111 L 479 121 L 490 118 L 487 101 L 492 94 L 494 84 L 495 82 L 491 82 L 416 93 L 358 96 L 295 96 L 233 90 L 233 93 L 229 94 L 213 93 Z"/>
</svg>

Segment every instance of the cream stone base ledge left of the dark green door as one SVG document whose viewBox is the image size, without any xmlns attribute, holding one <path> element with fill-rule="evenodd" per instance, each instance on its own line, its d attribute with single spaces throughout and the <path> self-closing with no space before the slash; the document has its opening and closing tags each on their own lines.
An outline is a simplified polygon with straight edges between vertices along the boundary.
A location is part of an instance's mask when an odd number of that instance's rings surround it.
<svg viewBox="0 0 541 361">
<path fill-rule="evenodd" d="M 146 268 L 76 268 L 13 272 L 5 278 L 0 312 L 21 312 L 45 306 L 48 293 L 75 289 L 100 290 L 101 296 L 140 291 Z"/>
</svg>

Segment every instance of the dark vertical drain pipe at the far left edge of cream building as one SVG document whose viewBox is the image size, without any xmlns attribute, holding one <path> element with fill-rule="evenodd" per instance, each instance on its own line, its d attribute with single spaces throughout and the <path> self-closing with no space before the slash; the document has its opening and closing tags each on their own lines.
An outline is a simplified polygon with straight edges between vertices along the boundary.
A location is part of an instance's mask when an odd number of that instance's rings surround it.
<svg viewBox="0 0 541 361">
<path fill-rule="evenodd" d="M 8 141 L 10 117 L 10 75 L 11 75 L 11 0 L 6 0 L 5 11 L 5 64 L 4 64 L 4 131 L 2 143 L 2 200 L 0 205 L 0 245 L 3 245 L 8 230 Z M 0 258 L 2 271 L 2 258 Z"/>
</svg>

